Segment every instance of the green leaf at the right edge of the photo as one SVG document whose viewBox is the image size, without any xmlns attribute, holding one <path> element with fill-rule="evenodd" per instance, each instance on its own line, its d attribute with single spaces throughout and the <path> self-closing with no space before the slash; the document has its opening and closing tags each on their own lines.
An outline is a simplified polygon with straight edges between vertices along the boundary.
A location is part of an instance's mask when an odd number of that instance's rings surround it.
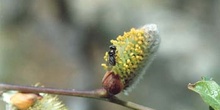
<svg viewBox="0 0 220 110">
<path fill-rule="evenodd" d="M 188 89 L 198 93 L 214 110 L 220 110 L 220 87 L 212 79 L 202 78 L 201 81 L 188 84 Z"/>
</svg>

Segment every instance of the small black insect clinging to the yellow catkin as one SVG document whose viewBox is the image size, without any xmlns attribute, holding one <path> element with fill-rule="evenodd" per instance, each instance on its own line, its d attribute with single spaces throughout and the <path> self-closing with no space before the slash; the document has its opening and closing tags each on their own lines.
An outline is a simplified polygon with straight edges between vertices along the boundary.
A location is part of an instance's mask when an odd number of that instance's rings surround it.
<svg viewBox="0 0 220 110">
<path fill-rule="evenodd" d="M 116 64 L 115 51 L 116 51 L 116 47 L 114 45 L 110 45 L 108 51 L 108 62 L 111 66 L 115 66 Z"/>
</svg>

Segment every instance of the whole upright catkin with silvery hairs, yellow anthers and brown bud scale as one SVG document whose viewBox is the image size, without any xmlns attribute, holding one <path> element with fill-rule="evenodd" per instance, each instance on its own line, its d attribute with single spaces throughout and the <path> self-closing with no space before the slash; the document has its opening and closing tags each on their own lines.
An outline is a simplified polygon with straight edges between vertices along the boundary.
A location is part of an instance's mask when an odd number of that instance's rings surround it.
<svg viewBox="0 0 220 110">
<path fill-rule="evenodd" d="M 110 95 L 126 94 L 131 91 L 139 79 L 146 73 L 152 62 L 154 54 L 160 44 L 158 29 L 155 24 L 145 25 L 141 28 L 132 28 L 124 35 L 111 40 L 115 46 L 114 65 L 109 64 L 112 58 L 109 52 L 105 53 L 102 66 L 107 70 L 102 80 L 103 87 Z"/>
</svg>

